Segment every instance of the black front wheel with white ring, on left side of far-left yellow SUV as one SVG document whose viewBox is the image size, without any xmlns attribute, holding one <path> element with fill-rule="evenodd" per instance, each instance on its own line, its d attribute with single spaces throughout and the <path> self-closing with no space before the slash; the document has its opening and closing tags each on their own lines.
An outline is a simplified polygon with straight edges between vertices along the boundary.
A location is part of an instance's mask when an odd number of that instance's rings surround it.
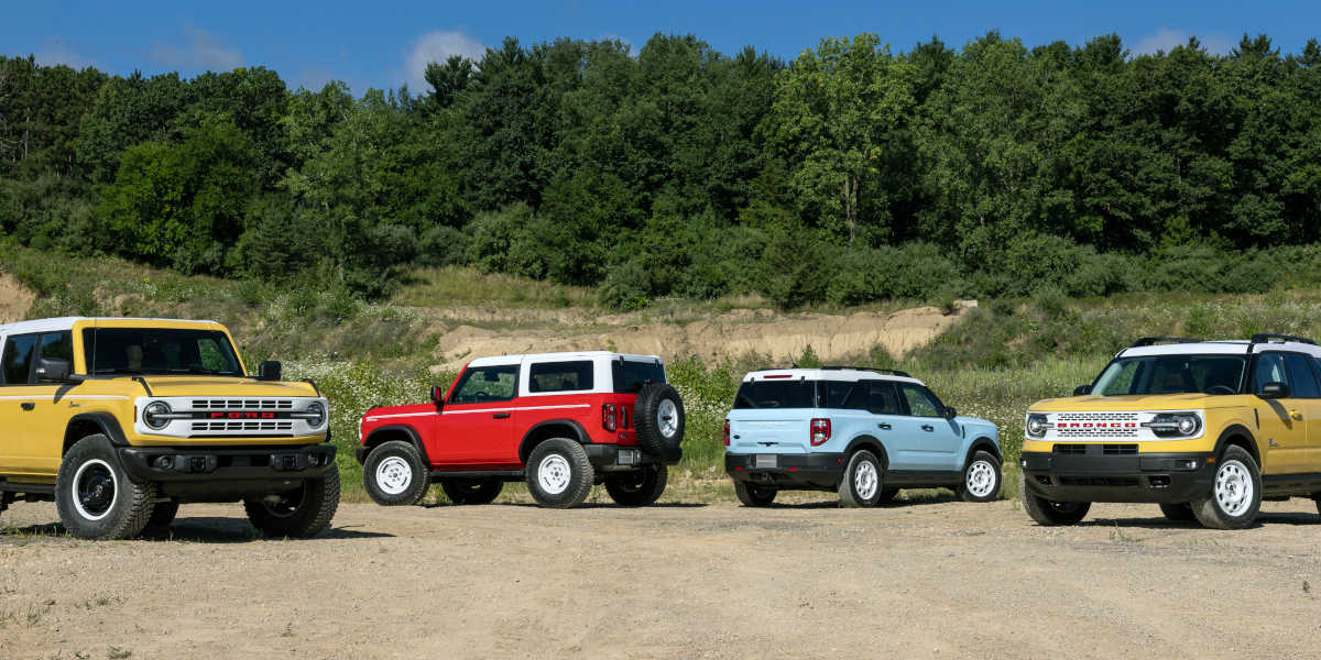
<svg viewBox="0 0 1321 660">
<path fill-rule="evenodd" d="M 155 496 L 156 484 L 129 479 L 102 434 L 74 444 L 55 477 L 59 521 L 79 539 L 136 536 L 152 516 Z"/>
</svg>

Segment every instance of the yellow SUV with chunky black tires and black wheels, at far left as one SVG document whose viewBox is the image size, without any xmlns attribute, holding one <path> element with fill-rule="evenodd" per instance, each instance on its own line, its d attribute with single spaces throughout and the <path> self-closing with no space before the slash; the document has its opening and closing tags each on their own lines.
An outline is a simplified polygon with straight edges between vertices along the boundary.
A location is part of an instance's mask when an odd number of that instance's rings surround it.
<svg viewBox="0 0 1321 660">
<path fill-rule="evenodd" d="M 159 532 L 181 503 L 242 500 L 268 536 L 313 536 L 339 504 L 328 403 L 247 376 L 214 321 L 0 325 L 0 511 L 54 500 L 82 539 Z"/>
</svg>

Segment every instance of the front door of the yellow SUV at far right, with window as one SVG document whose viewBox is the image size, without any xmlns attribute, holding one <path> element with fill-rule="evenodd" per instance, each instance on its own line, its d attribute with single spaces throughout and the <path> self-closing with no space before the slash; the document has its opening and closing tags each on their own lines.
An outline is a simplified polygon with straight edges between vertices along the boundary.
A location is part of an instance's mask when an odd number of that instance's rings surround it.
<svg viewBox="0 0 1321 660">
<path fill-rule="evenodd" d="M 1289 396 L 1284 399 L 1260 399 L 1255 401 L 1259 442 L 1264 450 L 1262 474 L 1293 474 L 1306 471 L 1306 426 L 1304 411 L 1295 399 L 1284 364 L 1284 354 L 1279 351 L 1262 352 L 1252 368 L 1252 393 L 1260 393 L 1267 383 L 1289 385 Z"/>
</svg>

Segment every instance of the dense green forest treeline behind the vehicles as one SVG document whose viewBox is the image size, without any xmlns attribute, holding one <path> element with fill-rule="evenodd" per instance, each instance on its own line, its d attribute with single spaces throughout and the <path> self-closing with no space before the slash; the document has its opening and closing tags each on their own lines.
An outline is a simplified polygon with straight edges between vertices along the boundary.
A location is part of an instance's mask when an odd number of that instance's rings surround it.
<svg viewBox="0 0 1321 660">
<path fill-rule="evenodd" d="M 363 297 L 410 264 L 605 302 L 1321 284 L 1321 46 L 989 33 L 791 62 L 692 36 L 522 45 L 428 90 L 0 57 L 0 230 Z M 1314 280 L 1314 281 L 1313 281 Z"/>
</svg>

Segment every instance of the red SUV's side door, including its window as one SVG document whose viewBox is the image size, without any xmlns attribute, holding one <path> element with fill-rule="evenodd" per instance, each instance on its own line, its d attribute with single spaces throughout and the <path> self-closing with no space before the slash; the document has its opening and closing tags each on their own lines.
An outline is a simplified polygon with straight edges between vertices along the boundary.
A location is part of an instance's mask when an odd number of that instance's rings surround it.
<svg viewBox="0 0 1321 660">
<path fill-rule="evenodd" d="M 432 462 L 450 469 L 497 469 L 513 441 L 518 363 L 469 367 L 429 433 Z"/>
</svg>

